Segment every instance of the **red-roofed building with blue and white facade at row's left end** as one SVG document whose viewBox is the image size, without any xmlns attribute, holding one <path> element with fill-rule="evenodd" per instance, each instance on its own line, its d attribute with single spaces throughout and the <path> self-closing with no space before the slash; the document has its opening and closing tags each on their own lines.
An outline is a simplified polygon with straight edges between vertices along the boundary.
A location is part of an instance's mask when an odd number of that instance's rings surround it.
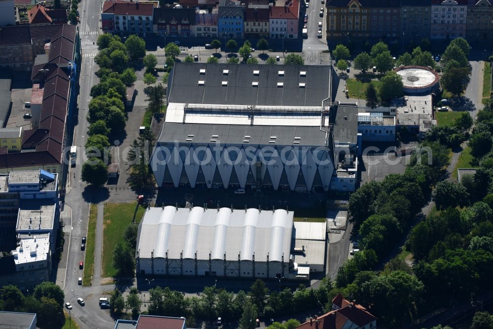
<svg viewBox="0 0 493 329">
<path fill-rule="evenodd" d="M 106 1 L 101 12 L 105 33 L 130 33 L 144 36 L 152 32 L 152 3 Z"/>
</svg>

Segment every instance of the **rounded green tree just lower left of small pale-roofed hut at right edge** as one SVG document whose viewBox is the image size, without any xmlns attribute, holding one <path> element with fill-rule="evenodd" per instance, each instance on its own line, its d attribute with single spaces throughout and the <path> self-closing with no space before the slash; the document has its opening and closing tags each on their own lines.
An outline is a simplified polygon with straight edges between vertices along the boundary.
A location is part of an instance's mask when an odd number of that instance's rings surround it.
<svg viewBox="0 0 493 329">
<path fill-rule="evenodd" d="M 436 184 L 432 198 L 437 209 L 465 206 L 469 202 L 469 195 L 462 184 L 446 180 Z"/>
</svg>

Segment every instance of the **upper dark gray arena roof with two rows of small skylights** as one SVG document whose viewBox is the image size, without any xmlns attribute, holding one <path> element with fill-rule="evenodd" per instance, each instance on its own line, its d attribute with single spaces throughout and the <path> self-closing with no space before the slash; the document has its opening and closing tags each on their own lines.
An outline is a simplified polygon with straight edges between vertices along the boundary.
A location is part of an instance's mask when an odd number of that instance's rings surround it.
<svg viewBox="0 0 493 329">
<path fill-rule="evenodd" d="M 330 66 L 319 65 L 176 63 L 168 102 L 321 106 L 330 95 L 330 72 Z M 258 85 L 252 86 L 252 82 Z M 305 85 L 300 87 L 300 83 Z"/>
</svg>

